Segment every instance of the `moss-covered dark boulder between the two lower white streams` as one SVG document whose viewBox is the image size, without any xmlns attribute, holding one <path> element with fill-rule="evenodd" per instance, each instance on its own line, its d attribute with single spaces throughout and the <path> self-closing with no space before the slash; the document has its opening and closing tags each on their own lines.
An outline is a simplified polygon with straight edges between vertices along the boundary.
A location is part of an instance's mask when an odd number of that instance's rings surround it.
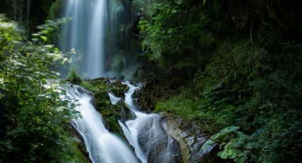
<svg viewBox="0 0 302 163">
<path fill-rule="evenodd" d="M 73 75 L 75 76 L 75 75 Z M 123 101 L 112 104 L 109 98 L 109 92 L 112 94 L 124 97 L 124 92 L 129 89 L 122 81 L 118 79 L 107 79 L 104 77 L 97 79 L 82 80 L 80 82 L 85 89 L 92 91 L 94 98 L 92 104 L 97 111 L 102 113 L 106 128 L 112 133 L 124 137 L 122 127 L 118 120 L 125 121 L 132 117 L 132 113 Z"/>
</svg>

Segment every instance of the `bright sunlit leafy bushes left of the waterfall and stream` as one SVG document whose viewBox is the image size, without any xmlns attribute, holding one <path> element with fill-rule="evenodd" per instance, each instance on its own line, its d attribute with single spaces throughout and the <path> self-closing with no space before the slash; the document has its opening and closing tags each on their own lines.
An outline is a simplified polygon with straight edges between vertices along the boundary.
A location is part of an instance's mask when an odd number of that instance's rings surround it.
<svg viewBox="0 0 302 163">
<path fill-rule="evenodd" d="M 41 26 L 57 26 L 48 21 Z M 45 30 L 45 28 L 44 28 Z M 85 160 L 67 132 L 78 115 L 54 71 L 65 55 L 45 44 L 45 35 L 26 40 L 16 23 L 0 15 L 0 162 Z"/>
</svg>

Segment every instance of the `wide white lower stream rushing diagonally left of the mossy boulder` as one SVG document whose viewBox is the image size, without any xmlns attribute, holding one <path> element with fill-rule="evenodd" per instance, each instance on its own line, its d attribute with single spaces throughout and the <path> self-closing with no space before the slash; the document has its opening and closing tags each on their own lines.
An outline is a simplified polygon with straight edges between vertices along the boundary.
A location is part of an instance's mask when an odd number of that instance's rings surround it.
<svg viewBox="0 0 302 163">
<path fill-rule="evenodd" d="M 90 103 L 92 96 L 80 93 L 79 90 L 85 91 L 80 86 L 68 89 L 68 96 L 77 99 L 80 103 L 80 106 L 77 106 L 76 109 L 82 114 L 82 118 L 73 120 L 73 124 L 82 135 L 92 162 L 138 162 L 134 153 L 129 150 L 124 142 L 119 137 L 109 133 L 104 127 L 102 115 Z"/>
</svg>

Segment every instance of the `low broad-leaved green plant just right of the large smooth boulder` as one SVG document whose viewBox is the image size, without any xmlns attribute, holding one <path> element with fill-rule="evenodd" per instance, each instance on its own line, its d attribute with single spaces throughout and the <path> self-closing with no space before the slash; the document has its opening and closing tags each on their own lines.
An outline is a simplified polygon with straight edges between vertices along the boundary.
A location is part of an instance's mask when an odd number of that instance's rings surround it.
<svg viewBox="0 0 302 163">
<path fill-rule="evenodd" d="M 210 140 L 205 142 L 203 149 L 214 143 L 219 144 L 220 152 L 217 156 L 222 159 L 234 159 L 234 162 L 242 163 L 247 161 L 247 154 L 252 149 L 252 144 L 249 143 L 250 137 L 238 131 L 238 126 L 230 126 L 220 130 L 219 133 L 212 135 Z"/>
</svg>

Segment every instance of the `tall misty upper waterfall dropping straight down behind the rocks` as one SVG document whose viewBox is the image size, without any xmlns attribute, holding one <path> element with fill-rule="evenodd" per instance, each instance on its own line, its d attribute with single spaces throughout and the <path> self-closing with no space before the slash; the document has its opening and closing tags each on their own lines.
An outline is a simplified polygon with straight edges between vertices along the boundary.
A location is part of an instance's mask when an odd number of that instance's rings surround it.
<svg viewBox="0 0 302 163">
<path fill-rule="evenodd" d="M 60 48 L 74 51 L 71 64 L 61 67 L 66 76 L 76 69 L 82 77 L 136 75 L 136 52 L 132 48 L 129 9 L 122 0 L 66 0 Z M 105 48 L 106 47 L 106 48 Z"/>
</svg>

